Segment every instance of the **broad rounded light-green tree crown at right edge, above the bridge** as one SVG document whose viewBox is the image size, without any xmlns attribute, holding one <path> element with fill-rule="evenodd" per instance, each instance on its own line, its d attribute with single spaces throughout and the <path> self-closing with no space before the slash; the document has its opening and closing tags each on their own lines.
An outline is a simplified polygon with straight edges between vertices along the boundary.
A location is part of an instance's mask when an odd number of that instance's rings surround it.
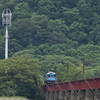
<svg viewBox="0 0 100 100">
<path fill-rule="evenodd" d="M 82 45 L 78 48 L 78 51 L 83 53 L 80 59 L 86 58 L 86 66 L 98 66 L 100 59 L 100 47 L 93 44 Z"/>
</svg>

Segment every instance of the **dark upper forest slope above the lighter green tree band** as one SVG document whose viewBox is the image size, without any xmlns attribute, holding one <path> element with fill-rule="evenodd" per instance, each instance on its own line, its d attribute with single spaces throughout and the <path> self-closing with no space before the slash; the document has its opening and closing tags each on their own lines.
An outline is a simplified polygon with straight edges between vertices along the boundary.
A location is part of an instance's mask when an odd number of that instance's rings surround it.
<svg viewBox="0 0 100 100">
<path fill-rule="evenodd" d="M 1 0 L 0 11 L 8 7 L 13 14 L 9 56 L 44 43 L 66 43 L 76 49 L 82 44 L 99 45 L 99 4 L 98 0 Z M 0 32 L 4 35 L 2 27 Z"/>
</svg>

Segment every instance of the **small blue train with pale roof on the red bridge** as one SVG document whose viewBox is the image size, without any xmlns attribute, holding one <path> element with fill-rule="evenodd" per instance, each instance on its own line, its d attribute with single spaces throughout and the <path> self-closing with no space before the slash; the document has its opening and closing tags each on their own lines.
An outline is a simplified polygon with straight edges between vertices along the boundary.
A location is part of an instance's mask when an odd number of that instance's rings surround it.
<svg viewBox="0 0 100 100">
<path fill-rule="evenodd" d="M 56 73 L 55 72 L 48 72 L 45 75 L 45 83 L 55 83 L 56 82 Z"/>
</svg>

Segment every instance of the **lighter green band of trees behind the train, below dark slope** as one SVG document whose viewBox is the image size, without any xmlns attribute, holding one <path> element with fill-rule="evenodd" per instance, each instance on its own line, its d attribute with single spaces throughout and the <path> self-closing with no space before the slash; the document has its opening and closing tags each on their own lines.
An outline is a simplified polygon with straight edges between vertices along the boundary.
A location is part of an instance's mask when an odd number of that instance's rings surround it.
<svg viewBox="0 0 100 100">
<path fill-rule="evenodd" d="M 97 66 L 100 65 L 100 48 L 92 44 L 82 45 L 79 48 L 68 48 L 66 44 L 43 44 L 38 46 L 38 48 L 22 50 L 17 52 L 13 56 L 18 56 L 21 54 L 32 54 L 33 58 L 39 59 L 38 64 L 43 66 L 41 73 L 46 73 L 48 71 L 57 70 L 58 75 L 62 80 L 66 79 L 66 63 L 69 62 L 70 79 L 74 79 L 73 76 L 77 76 L 77 79 L 83 78 L 80 76 L 82 74 L 83 59 L 86 58 L 85 65 L 88 71 L 85 71 L 85 77 L 92 77 L 99 75 L 96 74 Z M 89 73 L 91 74 L 89 74 Z M 79 73 L 79 74 L 78 74 Z"/>
</svg>

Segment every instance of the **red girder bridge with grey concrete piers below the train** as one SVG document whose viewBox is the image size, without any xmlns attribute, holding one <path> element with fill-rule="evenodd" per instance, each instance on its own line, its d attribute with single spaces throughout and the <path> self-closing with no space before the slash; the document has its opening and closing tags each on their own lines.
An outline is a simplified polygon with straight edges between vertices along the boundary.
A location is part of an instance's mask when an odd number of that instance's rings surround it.
<svg viewBox="0 0 100 100">
<path fill-rule="evenodd" d="M 47 84 L 45 100 L 100 100 L 100 77 Z"/>
</svg>

